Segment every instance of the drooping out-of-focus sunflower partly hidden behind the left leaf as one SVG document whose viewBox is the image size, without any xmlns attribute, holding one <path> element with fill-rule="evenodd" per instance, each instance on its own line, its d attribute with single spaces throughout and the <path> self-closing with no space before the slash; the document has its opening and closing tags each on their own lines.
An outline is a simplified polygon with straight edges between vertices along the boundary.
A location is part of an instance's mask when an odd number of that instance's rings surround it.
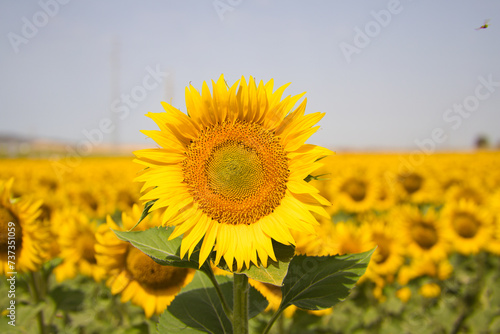
<svg viewBox="0 0 500 334">
<path fill-rule="evenodd" d="M 191 282 L 195 270 L 162 266 L 113 233 L 112 229 L 130 230 L 140 217 L 141 210 L 137 205 L 133 206 L 130 216 L 122 213 L 123 227 L 108 216 L 107 224 L 100 225 L 96 233 L 98 243 L 95 250 L 98 265 L 110 276 L 107 284 L 111 292 L 121 293 L 123 303 L 132 300 L 150 318 L 170 305 L 180 290 Z M 149 219 L 141 222 L 135 230 L 158 225 L 157 219 L 155 214 L 149 215 Z"/>
</svg>

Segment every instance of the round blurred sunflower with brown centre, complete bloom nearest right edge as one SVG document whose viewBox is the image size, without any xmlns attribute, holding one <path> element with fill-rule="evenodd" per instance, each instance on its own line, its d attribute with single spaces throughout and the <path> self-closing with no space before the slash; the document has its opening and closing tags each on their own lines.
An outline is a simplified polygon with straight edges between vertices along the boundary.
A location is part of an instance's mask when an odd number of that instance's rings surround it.
<svg viewBox="0 0 500 334">
<path fill-rule="evenodd" d="M 472 201 L 447 203 L 442 210 L 442 220 L 447 238 L 461 254 L 477 254 L 492 241 L 493 217 Z"/>
</svg>

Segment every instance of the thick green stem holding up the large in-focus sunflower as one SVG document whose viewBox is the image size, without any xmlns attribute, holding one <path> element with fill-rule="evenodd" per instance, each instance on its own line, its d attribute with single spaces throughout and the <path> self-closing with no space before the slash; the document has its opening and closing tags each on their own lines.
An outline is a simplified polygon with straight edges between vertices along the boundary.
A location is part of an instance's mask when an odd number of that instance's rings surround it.
<svg viewBox="0 0 500 334">
<path fill-rule="evenodd" d="M 233 332 L 248 334 L 248 304 L 250 287 L 245 274 L 234 274 L 233 286 Z"/>
</svg>

